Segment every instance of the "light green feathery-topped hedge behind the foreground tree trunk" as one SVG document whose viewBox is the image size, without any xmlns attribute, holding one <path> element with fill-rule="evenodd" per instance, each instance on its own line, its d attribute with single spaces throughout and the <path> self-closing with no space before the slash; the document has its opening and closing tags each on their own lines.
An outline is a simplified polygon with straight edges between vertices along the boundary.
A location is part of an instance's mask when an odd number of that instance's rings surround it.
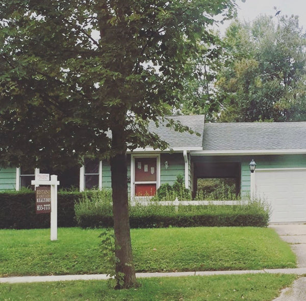
<svg viewBox="0 0 306 301">
<path fill-rule="evenodd" d="M 99 196 L 100 195 L 100 196 Z M 130 206 L 132 228 L 196 227 L 196 226 L 257 226 L 268 225 L 270 212 L 265 202 L 248 201 L 239 205 L 161 206 L 151 202 Z M 113 212 L 110 195 L 96 192 L 75 204 L 75 217 L 81 227 L 112 227 Z"/>
</svg>

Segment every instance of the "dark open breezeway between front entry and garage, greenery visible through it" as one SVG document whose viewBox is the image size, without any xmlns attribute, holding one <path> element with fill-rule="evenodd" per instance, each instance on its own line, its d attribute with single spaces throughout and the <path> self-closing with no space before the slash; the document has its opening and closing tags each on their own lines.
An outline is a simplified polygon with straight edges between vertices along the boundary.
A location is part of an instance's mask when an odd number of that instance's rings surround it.
<svg viewBox="0 0 306 301">
<path fill-rule="evenodd" d="M 240 197 L 240 163 L 194 163 L 193 197 L 235 200 Z"/>
</svg>

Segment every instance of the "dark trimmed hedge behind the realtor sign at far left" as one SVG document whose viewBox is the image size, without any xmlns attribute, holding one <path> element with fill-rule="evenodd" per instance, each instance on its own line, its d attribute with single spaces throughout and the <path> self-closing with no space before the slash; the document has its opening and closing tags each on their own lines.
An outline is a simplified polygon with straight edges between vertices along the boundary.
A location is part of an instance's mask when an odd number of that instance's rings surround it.
<svg viewBox="0 0 306 301">
<path fill-rule="evenodd" d="M 90 193 L 89 193 L 90 195 Z M 72 227 L 74 202 L 84 196 L 81 192 L 58 192 L 58 226 Z M 32 229 L 50 227 L 50 214 L 36 214 L 33 191 L 0 193 L 0 228 Z"/>
</svg>

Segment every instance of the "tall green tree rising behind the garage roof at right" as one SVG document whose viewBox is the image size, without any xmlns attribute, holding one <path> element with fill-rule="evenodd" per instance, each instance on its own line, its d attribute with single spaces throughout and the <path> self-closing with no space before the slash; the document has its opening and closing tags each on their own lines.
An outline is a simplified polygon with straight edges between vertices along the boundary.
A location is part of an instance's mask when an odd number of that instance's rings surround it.
<svg viewBox="0 0 306 301">
<path fill-rule="evenodd" d="M 235 22 L 218 75 L 220 121 L 306 120 L 306 38 L 297 16 Z"/>
</svg>

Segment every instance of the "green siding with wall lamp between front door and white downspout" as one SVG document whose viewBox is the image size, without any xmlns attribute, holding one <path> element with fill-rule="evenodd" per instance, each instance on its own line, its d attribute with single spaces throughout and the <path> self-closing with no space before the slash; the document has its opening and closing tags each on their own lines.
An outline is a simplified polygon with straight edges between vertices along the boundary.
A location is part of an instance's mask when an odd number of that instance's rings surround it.
<svg viewBox="0 0 306 301">
<path fill-rule="evenodd" d="M 169 167 L 167 169 L 165 168 L 165 161 L 168 161 Z M 172 185 L 179 174 L 185 179 L 183 153 L 161 154 L 161 184 L 169 183 Z"/>
</svg>

